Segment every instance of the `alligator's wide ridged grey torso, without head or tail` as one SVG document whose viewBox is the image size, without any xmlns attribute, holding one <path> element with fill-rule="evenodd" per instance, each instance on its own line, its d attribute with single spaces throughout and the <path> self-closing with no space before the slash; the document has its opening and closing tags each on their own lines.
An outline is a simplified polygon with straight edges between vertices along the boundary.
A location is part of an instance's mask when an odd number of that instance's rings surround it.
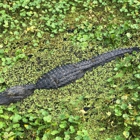
<svg viewBox="0 0 140 140">
<path fill-rule="evenodd" d="M 56 67 L 40 77 L 36 82 L 37 89 L 56 89 L 81 78 L 85 71 L 76 64 Z"/>
</svg>

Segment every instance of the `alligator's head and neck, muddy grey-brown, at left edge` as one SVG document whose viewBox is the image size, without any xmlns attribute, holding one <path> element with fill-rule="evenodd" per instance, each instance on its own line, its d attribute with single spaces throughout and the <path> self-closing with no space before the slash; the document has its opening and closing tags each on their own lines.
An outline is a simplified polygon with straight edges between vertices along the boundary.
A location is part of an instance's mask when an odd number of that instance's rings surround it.
<svg viewBox="0 0 140 140">
<path fill-rule="evenodd" d="M 35 85 L 14 86 L 0 93 L 0 105 L 7 105 L 20 101 L 31 95 L 35 90 Z"/>
</svg>

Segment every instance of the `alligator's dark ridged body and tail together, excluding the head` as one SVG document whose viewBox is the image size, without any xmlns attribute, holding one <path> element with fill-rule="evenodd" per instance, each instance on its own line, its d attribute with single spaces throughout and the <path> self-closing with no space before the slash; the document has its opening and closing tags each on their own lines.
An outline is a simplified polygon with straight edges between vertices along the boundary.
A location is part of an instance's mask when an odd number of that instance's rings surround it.
<svg viewBox="0 0 140 140">
<path fill-rule="evenodd" d="M 65 86 L 84 76 L 85 72 L 91 70 L 93 67 L 104 65 L 106 62 L 109 62 L 118 56 L 123 56 L 125 53 L 132 53 L 133 51 L 139 50 L 140 49 L 137 47 L 114 50 L 76 64 L 67 64 L 56 67 L 37 80 L 36 88 L 56 89 Z"/>
</svg>

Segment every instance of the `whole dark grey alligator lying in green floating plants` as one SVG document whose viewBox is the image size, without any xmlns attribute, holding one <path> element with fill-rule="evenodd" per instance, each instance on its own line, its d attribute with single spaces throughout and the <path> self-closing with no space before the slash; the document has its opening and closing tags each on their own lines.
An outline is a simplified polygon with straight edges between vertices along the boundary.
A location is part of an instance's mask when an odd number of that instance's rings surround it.
<svg viewBox="0 0 140 140">
<path fill-rule="evenodd" d="M 104 65 L 105 63 L 114 60 L 116 57 L 123 57 L 126 53 L 131 54 L 133 51 L 140 52 L 140 48 L 132 47 L 117 49 L 100 54 L 89 60 L 58 66 L 42 75 L 35 84 L 14 86 L 1 92 L 0 105 L 8 105 L 20 101 L 33 94 L 36 89 L 57 89 L 68 85 L 83 77 L 87 71 Z"/>
</svg>

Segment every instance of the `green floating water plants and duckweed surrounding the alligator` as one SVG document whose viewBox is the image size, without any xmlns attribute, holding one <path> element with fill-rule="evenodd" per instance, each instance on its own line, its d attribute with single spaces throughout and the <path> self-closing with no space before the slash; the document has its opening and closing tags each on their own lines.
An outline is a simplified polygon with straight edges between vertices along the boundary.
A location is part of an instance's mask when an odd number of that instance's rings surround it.
<svg viewBox="0 0 140 140">
<path fill-rule="evenodd" d="M 140 46 L 138 0 L 0 2 L 0 92 L 54 67 Z M 0 140 L 139 140 L 140 54 L 0 106 Z"/>
</svg>

